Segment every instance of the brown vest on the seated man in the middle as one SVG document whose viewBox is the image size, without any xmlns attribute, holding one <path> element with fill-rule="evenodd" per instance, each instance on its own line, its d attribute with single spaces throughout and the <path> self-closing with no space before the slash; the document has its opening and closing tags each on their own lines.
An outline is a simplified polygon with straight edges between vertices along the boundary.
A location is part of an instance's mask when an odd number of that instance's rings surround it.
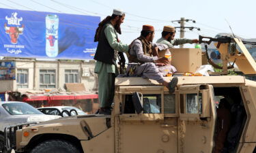
<svg viewBox="0 0 256 153">
<path fill-rule="evenodd" d="M 148 43 L 147 40 L 145 39 L 145 37 L 140 36 L 137 39 L 139 39 L 142 43 L 142 48 L 143 48 L 143 53 L 147 56 L 152 56 L 152 44 Z M 134 39 L 135 41 L 136 39 Z M 132 41 L 133 43 L 133 41 Z M 128 54 L 128 60 L 129 63 L 143 63 L 141 61 L 139 61 L 139 59 L 137 58 L 136 55 L 131 55 L 130 52 Z"/>
</svg>

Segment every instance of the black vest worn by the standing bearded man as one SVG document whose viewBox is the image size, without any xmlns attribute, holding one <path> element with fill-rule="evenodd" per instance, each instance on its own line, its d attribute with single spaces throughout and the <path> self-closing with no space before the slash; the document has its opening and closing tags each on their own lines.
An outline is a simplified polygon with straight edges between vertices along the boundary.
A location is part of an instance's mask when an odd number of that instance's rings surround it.
<svg viewBox="0 0 256 153">
<path fill-rule="evenodd" d="M 104 24 L 104 27 L 102 28 L 102 31 L 100 32 L 100 37 L 98 41 L 98 46 L 97 50 L 94 56 L 94 59 L 96 61 L 100 61 L 103 63 L 111 64 L 111 65 L 116 65 L 116 57 L 115 57 L 115 50 L 111 48 L 109 45 L 109 41 L 106 39 L 106 35 L 104 33 L 104 30 L 108 26 L 109 23 Z M 115 33 L 116 37 L 117 34 Z"/>
</svg>

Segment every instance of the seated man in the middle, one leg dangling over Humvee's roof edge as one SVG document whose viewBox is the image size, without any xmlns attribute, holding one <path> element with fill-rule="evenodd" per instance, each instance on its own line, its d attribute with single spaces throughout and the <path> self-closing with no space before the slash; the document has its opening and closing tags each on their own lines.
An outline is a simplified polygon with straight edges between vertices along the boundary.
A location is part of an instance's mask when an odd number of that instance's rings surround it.
<svg viewBox="0 0 256 153">
<path fill-rule="evenodd" d="M 154 47 L 152 47 L 153 39 L 154 27 L 151 25 L 143 25 L 141 36 L 132 41 L 129 50 L 129 63 L 139 63 L 138 65 L 128 65 L 129 75 L 137 75 L 156 80 L 158 83 L 166 86 L 170 93 L 173 93 L 175 86 L 177 86 L 178 79 L 174 77 L 171 82 L 168 82 L 159 72 L 156 65 L 158 65 L 158 63 L 161 63 L 161 65 L 168 64 L 169 60 L 166 57 L 157 56 L 156 52 L 158 51 L 158 46 L 154 45 Z"/>
</svg>

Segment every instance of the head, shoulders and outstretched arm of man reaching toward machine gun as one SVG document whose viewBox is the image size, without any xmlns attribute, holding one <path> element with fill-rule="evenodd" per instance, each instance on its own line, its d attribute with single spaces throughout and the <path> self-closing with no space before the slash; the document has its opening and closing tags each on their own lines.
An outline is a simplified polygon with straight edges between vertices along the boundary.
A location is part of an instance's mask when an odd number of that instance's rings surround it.
<svg viewBox="0 0 256 153">
<path fill-rule="evenodd" d="M 174 48 L 174 46 L 182 44 L 193 44 L 198 43 L 198 39 L 174 39 L 175 37 L 175 27 L 165 26 L 162 31 L 162 37 L 156 41 L 158 44 L 166 44 L 169 48 Z"/>
</svg>

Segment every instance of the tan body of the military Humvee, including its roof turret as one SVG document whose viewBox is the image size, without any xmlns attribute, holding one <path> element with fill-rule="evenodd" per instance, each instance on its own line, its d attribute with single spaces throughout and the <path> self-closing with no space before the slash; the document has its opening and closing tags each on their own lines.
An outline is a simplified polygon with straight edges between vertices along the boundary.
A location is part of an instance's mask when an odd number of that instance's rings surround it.
<svg viewBox="0 0 256 153">
<path fill-rule="evenodd" d="M 239 58 L 238 67 L 242 71 L 255 73 L 256 65 L 251 55 L 238 39 L 235 41 L 244 54 L 230 55 L 227 44 L 221 44 L 219 50 L 223 55 L 222 58 L 229 60 Z M 173 65 L 182 72 L 195 71 L 196 67 L 201 65 L 198 61 L 199 59 L 201 61 L 199 49 L 173 49 L 172 53 Z M 192 58 L 188 57 L 190 55 Z M 188 60 L 180 63 L 184 56 Z M 186 69 L 182 69 L 184 67 Z M 225 95 L 226 93 L 222 93 L 223 88 L 230 90 L 238 88 L 246 112 L 246 120 L 240 128 L 240 140 L 236 145 L 236 152 L 251 153 L 255 150 L 256 82 L 245 80 L 243 76 L 238 75 L 179 76 L 178 79 L 177 88 L 170 95 L 167 88 L 154 80 L 116 78 L 115 105 L 111 116 L 77 116 L 33 124 L 16 132 L 16 150 L 27 149 L 27 144 L 33 141 L 33 137 L 52 133 L 76 137 L 80 141 L 76 145 L 81 146 L 86 153 L 210 153 L 216 144 L 214 135 L 217 114 L 214 90 L 221 92 L 218 93 L 219 95 Z M 134 92 L 143 95 L 141 98 L 145 98 L 143 103 L 156 101 L 160 108 L 154 109 L 159 112 L 125 113 L 126 104 L 132 104 L 129 98 Z M 193 113 L 190 112 L 189 97 L 195 97 L 195 101 L 199 104 L 193 107 Z M 31 131 L 35 128 L 38 129 L 37 132 Z M 25 131 L 29 132 L 29 137 L 23 136 Z"/>
</svg>

